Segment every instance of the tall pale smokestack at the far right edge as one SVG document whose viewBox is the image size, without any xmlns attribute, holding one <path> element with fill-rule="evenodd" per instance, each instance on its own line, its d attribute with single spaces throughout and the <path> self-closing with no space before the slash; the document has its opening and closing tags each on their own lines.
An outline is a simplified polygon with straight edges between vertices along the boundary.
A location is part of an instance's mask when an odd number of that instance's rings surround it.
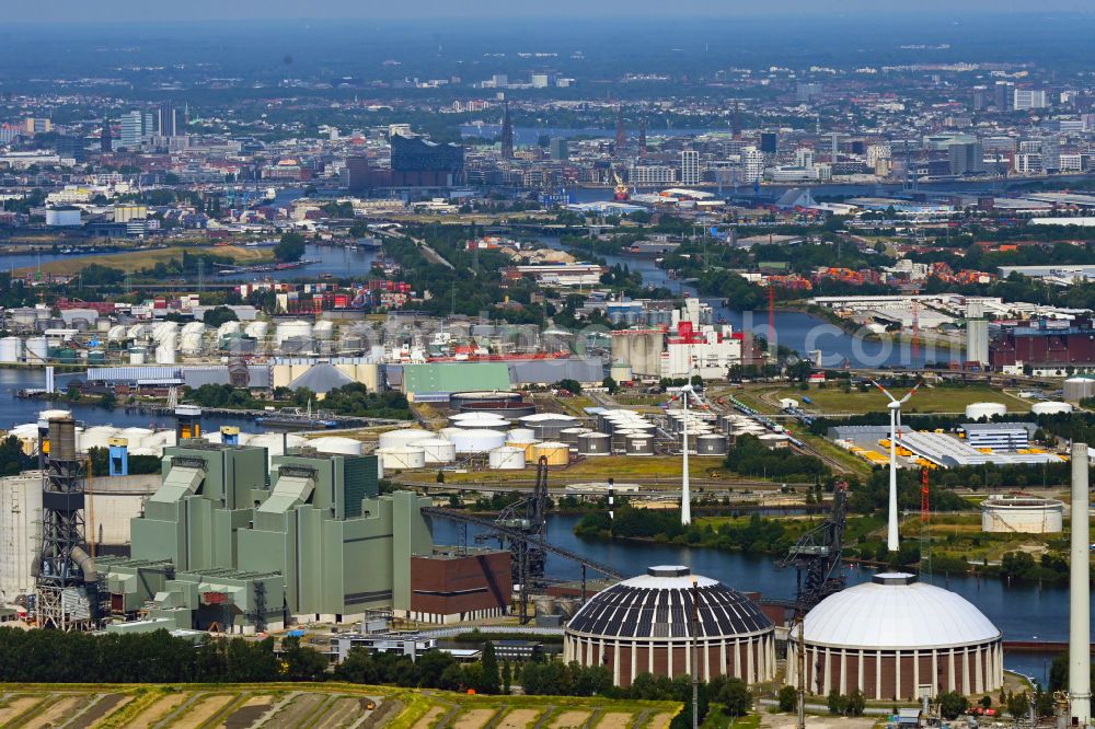
<svg viewBox="0 0 1095 729">
<path fill-rule="evenodd" d="M 1069 714 L 1086 727 L 1092 715 L 1088 577 L 1087 443 L 1072 444 L 1072 554 L 1069 581 Z"/>
</svg>

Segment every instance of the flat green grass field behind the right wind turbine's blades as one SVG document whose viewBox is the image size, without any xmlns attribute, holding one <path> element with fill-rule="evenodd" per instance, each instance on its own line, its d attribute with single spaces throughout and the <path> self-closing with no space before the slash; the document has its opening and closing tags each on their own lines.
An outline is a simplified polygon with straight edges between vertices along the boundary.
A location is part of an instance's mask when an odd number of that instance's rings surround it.
<svg viewBox="0 0 1095 729">
<path fill-rule="evenodd" d="M 906 390 L 894 392 L 896 397 L 904 395 Z M 886 395 L 872 387 L 867 392 L 860 392 L 852 389 L 845 393 L 837 385 L 830 384 L 825 390 L 816 385 L 810 386 L 808 392 L 798 387 L 758 387 L 754 391 L 758 398 L 765 401 L 770 406 L 775 405 L 783 397 L 797 400 L 807 410 L 819 413 L 885 413 Z M 809 397 L 812 403 L 804 403 L 803 395 Z M 1008 410 L 1026 413 L 1030 409 L 1030 404 L 1001 390 L 983 386 L 970 387 L 931 387 L 922 386 L 917 391 L 902 413 L 963 413 L 966 406 L 971 403 L 992 402 L 1003 403 Z"/>
</svg>

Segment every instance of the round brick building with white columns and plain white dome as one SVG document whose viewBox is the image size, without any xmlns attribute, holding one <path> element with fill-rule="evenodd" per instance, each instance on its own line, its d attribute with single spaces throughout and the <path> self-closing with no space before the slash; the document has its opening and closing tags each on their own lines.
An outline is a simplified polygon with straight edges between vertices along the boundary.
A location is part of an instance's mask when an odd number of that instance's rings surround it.
<svg viewBox="0 0 1095 729">
<path fill-rule="evenodd" d="M 798 685 L 797 629 L 787 644 L 787 683 Z M 1000 630 L 965 598 L 884 572 L 822 600 L 806 614 L 806 690 L 855 688 L 867 699 L 918 699 L 957 691 L 999 690 L 1004 682 Z"/>
</svg>

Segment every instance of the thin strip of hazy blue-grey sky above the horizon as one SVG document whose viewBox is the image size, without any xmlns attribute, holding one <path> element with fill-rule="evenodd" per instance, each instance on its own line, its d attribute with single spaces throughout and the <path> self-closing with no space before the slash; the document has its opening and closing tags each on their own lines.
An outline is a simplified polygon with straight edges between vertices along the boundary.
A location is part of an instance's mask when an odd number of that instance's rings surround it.
<svg viewBox="0 0 1095 729">
<path fill-rule="evenodd" d="M 680 20 L 689 15 L 764 13 L 917 13 L 945 19 L 956 12 L 1091 12 L 1088 0 L 45 0 L 3 2 L 8 21 L 141 22 L 254 19 L 554 18 L 622 16 Z M 956 9 L 960 9 L 956 11 Z"/>
</svg>

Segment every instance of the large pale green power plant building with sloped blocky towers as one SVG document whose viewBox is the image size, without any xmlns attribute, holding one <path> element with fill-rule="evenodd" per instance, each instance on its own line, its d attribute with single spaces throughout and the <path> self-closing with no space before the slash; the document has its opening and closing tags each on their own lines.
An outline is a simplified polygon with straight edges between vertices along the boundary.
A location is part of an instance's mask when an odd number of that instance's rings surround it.
<svg viewBox="0 0 1095 729">
<path fill-rule="evenodd" d="M 250 632 L 291 616 L 406 611 L 429 499 L 379 496 L 376 456 L 184 441 L 131 523 L 131 556 L 101 559 L 116 614 Z"/>
</svg>

